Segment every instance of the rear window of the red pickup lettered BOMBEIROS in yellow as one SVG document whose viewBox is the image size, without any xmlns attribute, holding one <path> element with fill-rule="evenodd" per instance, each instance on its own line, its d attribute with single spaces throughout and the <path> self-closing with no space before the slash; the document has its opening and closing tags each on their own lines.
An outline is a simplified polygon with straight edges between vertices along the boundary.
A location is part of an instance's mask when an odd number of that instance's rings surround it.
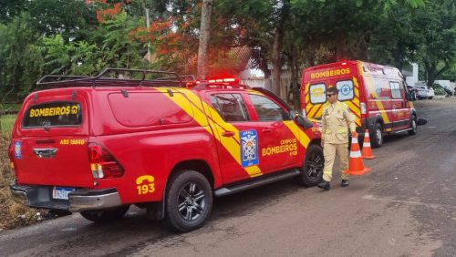
<svg viewBox="0 0 456 257">
<path fill-rule="evenodd" d="M 78 126 L 82 122 L 78 102 L 47 102 L 26 110 L 23 128 Z"/>
</svg>

